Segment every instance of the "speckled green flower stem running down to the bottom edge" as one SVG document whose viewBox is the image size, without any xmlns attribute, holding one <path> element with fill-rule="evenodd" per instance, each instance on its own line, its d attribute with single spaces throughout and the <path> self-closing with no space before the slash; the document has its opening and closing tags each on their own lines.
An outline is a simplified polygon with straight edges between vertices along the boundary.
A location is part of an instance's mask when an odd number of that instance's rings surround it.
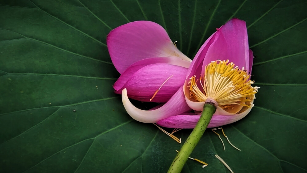
<svg viewBox="0 0 307 173">
<path fill-rule="evenodd" d="M 179 173 L 181 172 L 185 162 L 188 160 L 188 157 L 196 147 L 198 141 L 201 136 L 203 136 L 214 112 L 216 111 L 216 107 L 212 104 L 204 104 L 204 110 L 201 113 L 200 119 L 198 120 L 195 128 L 191 132 L 188 139 L 182 145 L 180 151 L 176 155 L 173 163 L 169 167 L 168 173 Z"/>
</svg>

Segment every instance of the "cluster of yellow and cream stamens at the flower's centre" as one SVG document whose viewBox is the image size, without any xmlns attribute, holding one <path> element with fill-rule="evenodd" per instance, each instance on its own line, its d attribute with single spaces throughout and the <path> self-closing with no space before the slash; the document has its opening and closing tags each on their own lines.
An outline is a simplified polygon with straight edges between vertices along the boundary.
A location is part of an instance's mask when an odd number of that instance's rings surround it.
<svg viewBox="0 0 307 173">
<path fill-rule="evenodd" d="M 199 102 L 214 99 L 221 108 L 233 108 L 234 104 L 249 107 L 260 87 L 251 86 L 254 81 L 249 80 L 250 75 L 244 67 L 240 70 L 228 62 L 212 61 L 206 65 L 205 74 L 200 75 L 199 80 L 192 76 L 188 86 L 190 98 Z"/>
</svg>

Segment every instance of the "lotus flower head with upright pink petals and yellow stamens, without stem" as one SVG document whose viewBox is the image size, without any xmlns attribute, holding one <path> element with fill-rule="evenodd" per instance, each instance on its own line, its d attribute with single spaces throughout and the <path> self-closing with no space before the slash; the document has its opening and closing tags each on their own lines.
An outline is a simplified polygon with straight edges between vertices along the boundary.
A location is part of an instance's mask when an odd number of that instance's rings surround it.
<svg viewBox="0 0 307 173">
<path fill-rule="evenodd" d="M 253 52 L 248 49 L 247 28 L 242 20 L 231 19 L 202 45 L 188 69 L 183 90 L 187 104 L 196 113 L 203 110 L 208 98 L 218 104 L 208 128 L 233 123 L 251 111 L 259 88 L 251 86 L 252 64 Z M 199 117 L 170 116 L 157 124 L 194 128 Z"/>
</svg>

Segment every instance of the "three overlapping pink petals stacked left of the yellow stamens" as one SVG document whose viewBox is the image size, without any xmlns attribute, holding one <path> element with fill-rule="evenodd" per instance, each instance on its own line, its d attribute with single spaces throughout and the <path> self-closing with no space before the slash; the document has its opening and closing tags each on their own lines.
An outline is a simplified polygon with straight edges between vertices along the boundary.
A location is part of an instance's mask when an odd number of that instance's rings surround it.
<svg viewBox="0 0 307 173">
<path fill-rule="evenodd" d="M 176 48 L 163 27 L 149 21 L 113 29 L 107 46 L 121 74 L 113 85 L 115 93 L 122 94 L 126 88 L 128 97 L 139 101 L 167 102 L 184 84 L 192 61 Z"/>
</svg>

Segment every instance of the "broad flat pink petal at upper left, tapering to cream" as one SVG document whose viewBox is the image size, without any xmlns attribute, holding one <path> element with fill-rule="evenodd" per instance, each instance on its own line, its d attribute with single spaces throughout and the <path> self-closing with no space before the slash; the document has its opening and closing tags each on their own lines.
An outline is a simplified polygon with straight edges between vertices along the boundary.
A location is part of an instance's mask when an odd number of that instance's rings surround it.
<svg viewBox="0 0 307 173">
<path fill-rule="evenodd" d="M 136 21 L 113 29 L 107 36 L 111 60 L 119 73 L 142 59 L 176 56 L 191 61 L 173 44 L 165 29 L 150 21 Z"/>
</svg>

